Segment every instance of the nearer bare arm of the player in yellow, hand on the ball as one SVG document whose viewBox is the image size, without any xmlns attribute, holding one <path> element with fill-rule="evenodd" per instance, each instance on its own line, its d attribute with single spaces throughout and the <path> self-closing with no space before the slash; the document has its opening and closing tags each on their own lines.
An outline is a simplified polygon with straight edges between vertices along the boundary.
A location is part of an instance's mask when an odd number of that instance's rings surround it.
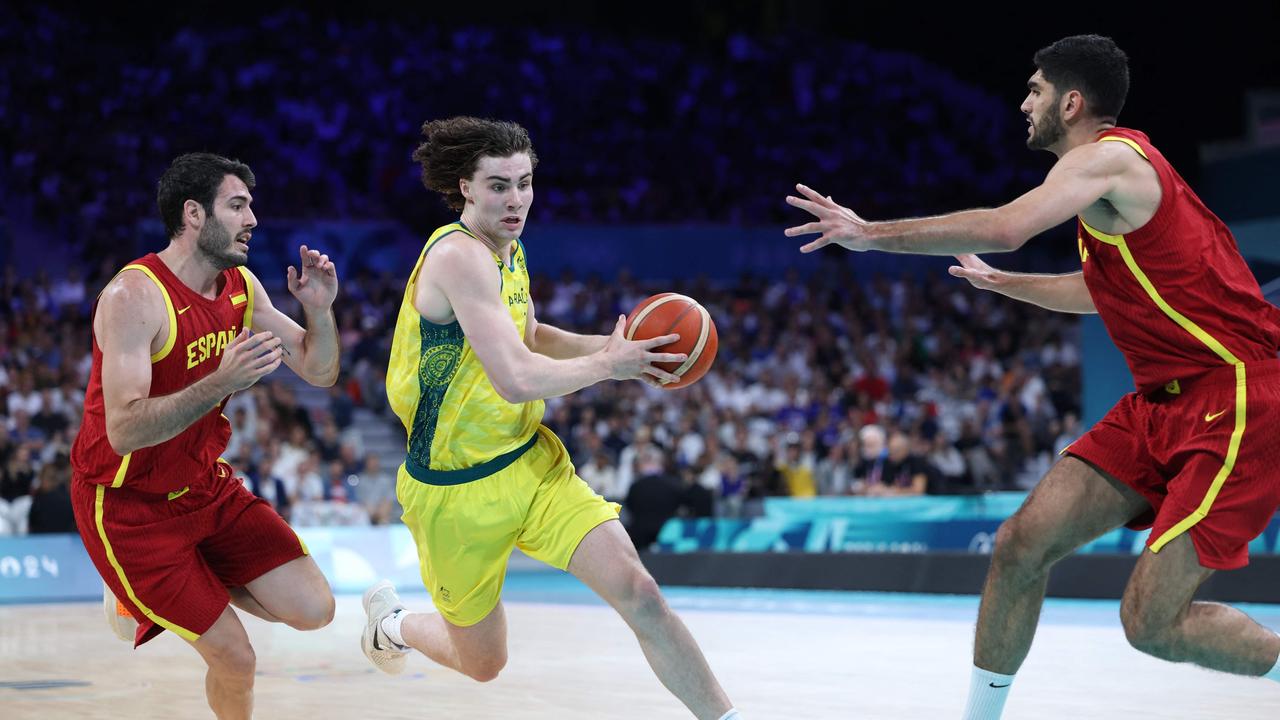
<svg viewBox="0 0 1280 720">
<path fill-rule="evenodd" d="M 649 375 L 673 382 L 676 375 L 654 368 L 653 363 L 684 359 L 684 355 L 649 352 L 676 336 L 631 342 L 622 337 L 621 319 L 605 346 L 590 355 L 558 360 L 534 352 L 502 304 L 489 251 L 466 236 L 438 242 L 419 273 L 419 283 L 426 282 L 434 282 L 444 293 L 489 382 L 508 402 L 567 395 L 609 378 Z"/>
</svg>

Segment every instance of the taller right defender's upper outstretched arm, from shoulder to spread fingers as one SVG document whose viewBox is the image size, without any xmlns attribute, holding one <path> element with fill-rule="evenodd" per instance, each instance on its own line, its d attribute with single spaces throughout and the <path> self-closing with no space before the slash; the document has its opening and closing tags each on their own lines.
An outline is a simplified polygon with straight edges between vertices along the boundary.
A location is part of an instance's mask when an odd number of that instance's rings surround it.
<svg viewBox="0 0 1280 720">
<path fill-rule="evenodd" d="M 882 250 L 919 255 L 1007 252 L 1032 237 L 1062 224 L 1116 188 L 1137 155 L 1116 142 L 1082 145 L 1053 165 L 1044 182 L 1021 197 L 995 209 L 964 210 L 934 218 L 867 222 L 849 208 L 803 184 L 804 197 L 787 202 L 813 213 L 817 220 L 787 228 L 787 237 L 820 233 L 800 247 L 813 252 L 827 245 L 849 250 Z"/>
</svg>

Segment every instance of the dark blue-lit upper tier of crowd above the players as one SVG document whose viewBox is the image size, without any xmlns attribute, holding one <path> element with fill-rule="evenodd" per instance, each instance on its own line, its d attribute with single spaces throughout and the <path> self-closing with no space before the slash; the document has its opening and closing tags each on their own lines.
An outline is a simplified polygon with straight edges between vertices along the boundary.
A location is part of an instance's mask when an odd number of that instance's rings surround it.
<svg viewBox="0 0 1280 720">
<path fill-rule="evenodd" d="M 443 204 L 410 154 L 422 122 L 454 114 L 529 128 L 539 223 L 778 223 L 797 179 L 881 218 L 1012 197 L 1039 174 L 1021 146 L 1023 78 L 997 97 L 836 38 L 694 44 L 302 9 L 157 37 L 41 4 L 0 13 L 0 63 L 23 68 L 0 74 L 6 209 L 95 258 L 154 215 L 147 178 L 191 150 L 247 161 L 275 219 L 435 227 Z"/>
</svg>

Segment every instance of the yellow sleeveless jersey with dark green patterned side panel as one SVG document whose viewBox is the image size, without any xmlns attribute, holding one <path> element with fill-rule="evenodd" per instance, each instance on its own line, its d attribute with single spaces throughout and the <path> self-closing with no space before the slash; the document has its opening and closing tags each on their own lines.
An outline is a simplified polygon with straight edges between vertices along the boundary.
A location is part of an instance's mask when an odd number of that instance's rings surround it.
<svg viewBox="0 0 1280 720">
<path fill-rule="evenodd" d="M 404 288 L 387 369 L 387 398 L 408 430 L 404 469 L 433 484 L 467 482 L 504 466 L 531 445 L 544 410 L 541 400 L 518 405 L 503 400 L 458 322 L 438 325 L 413 307 L 426 254 L 452 232 L 475 237 L 462 223 L 431 233 Z M 529 319 L 525 246 L 516 241 L 509 264 L 497 254 L 493 260 L 502 301 L 524 338 Z"/>
</svg>

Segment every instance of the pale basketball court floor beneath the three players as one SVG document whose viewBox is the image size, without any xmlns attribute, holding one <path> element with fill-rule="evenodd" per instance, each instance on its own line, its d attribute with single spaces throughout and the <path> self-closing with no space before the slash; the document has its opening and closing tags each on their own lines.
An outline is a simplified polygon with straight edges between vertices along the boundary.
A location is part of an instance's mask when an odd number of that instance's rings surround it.
<svg viewBox="0 0 1280 720">
<path fill-rule="evenodd" d="M 742 711 L 762 719 L 952 719 L 969 683 L 975 597 L 668 588 Z M 403 593 L 411 609 L 425 594 Z M 262 719 L 689 717 L 626 625 L 571 577 L 513 573 L 511 661 L 479 684 L 411 659 L 379 674 L 360 652 L 358 596 L 333 625 L 300 633 L 244 619 Z M 0 606 L 0 719 L 211 717 L 204 669 L 165 633 L 133 651 L 99 603 Z M 1280 606 L 1245 609 L 1280 628 Z M 1007 719 L 1280 717 L 1275 683 L 1212 674 L 1129 648 L 1110 601 L 1050 601 Z"/>
</svg>

